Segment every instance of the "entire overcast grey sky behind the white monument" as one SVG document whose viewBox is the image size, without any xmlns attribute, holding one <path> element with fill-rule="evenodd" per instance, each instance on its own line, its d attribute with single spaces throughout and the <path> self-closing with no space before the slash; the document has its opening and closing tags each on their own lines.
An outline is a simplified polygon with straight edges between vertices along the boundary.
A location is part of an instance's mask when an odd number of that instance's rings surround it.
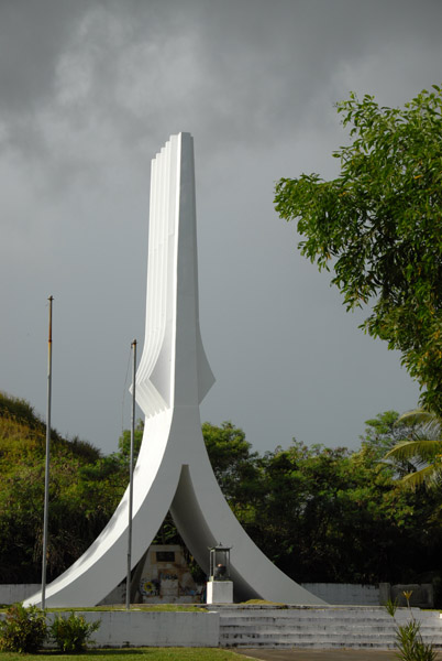
<svg viewBox="0 0 442 661">
<path fill-rule="evenodd" d="M 0 389 L 104 453 L 130 426 L 144 339 L 151 159 L 195 139 L 203 420 L 264 452 L 357 447 L 419 391 L 345 312 L 273 208 L 281 176 L 336 174 L 350 90 L 401 106 L 441 83 L 442 2 L 0 0 Z M 141 414 L 141 413 L 140 413 Z"/>
</svg>

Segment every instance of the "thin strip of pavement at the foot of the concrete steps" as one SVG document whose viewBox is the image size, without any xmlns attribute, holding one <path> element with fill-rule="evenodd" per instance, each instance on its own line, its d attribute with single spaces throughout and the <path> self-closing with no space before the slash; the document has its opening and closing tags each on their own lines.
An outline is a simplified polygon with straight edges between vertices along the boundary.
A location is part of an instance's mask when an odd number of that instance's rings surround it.
<svg viewBox="0 0 442 661">
<path fill-rule="evenodd" d="M 231 649 L 231 648 L 230 648 Z M 233 650 L 232 650 L 233 651 Z M 393 650 L 263 650 L 241 649 L 234 650 L 250 659 L 262 661 L 394 661 L 397 660 Z M 442 661 L 442 653 L 437 654 L 438 661 Z"/>
</svg>

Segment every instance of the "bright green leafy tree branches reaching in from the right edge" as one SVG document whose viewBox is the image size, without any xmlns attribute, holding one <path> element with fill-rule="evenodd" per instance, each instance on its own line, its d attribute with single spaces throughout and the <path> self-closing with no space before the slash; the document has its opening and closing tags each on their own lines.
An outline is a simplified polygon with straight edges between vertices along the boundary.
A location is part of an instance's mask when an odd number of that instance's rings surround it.
<svg viewBox="0 0 442 661">
<path fill-rule="evenodd" d="M 298 220 L 301 253 L 334 270 L 347 308 L 373 304 L 362 327 L 401 353 L 442 415 L 442 91 L 404 109 L 352 94 L 338 111 L 353 140 L 333 154 L 340 175 L 280 180 L 276 210 Z"/>
</svg>

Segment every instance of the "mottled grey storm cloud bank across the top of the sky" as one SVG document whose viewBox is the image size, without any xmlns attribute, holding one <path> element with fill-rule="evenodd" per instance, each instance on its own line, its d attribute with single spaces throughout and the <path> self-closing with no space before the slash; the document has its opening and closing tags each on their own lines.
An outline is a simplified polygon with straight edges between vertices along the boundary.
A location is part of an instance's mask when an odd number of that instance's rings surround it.
<svg viewBox="0 0 442 661">
<path fill-rule="evenodd" d="M 267 143 L 336 100 L 345 63 L 377 44 L 439 47 L 438 14 L 408 1 L 3 2 L 2 121 L 23 150 L 45 141 L 42 111 L 74 132 L 108 123 L 125 144 L 185 124 Z"/>
</svg>

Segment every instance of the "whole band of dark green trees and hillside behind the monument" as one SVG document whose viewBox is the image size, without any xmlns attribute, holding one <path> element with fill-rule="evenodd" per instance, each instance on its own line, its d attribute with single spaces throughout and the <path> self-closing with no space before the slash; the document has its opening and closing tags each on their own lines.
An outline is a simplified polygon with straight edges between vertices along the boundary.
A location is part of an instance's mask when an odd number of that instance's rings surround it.
<svg viewBox="0 0 442 661">
<path fill-rule="evenodd" d="M 26 402 L 0 394 L 1 583 L 40 582 L 42 424 Z M 137 438 L 141 432 L 139 424 Z M 413 583 L 442 576 L 442 490 L 405 490 L 397 478 L 407 474 L 409 462 L 382 462 L 410 434 L 396 412 L 367 421 L 361 447 L 353 452 L 292 440 L 287 448 L 261 455 L 230 422 L 205 423 L 202 432 L 235 516 L 296 581 Z M 54 432 L 49 579 L 86 550 L 112 516 L 128 485 L 126 436 L 117 452 L 102 456 L 91 444 Z M 169 516 L 156 543 L 181 543 Z"/>
</svg>

